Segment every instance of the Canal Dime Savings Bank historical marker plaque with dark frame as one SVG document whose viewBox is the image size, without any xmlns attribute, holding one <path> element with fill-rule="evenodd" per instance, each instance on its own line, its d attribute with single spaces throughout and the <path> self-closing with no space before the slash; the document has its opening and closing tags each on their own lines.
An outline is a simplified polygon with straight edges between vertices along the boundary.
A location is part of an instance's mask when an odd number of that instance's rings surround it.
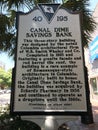
<svg viewBox="0 0 98 130">
<path fill-rule="evenodd" d="M 13 113 L 87 112 L 80 14 L 39 4 L 18 14 Z"/>
</svg>

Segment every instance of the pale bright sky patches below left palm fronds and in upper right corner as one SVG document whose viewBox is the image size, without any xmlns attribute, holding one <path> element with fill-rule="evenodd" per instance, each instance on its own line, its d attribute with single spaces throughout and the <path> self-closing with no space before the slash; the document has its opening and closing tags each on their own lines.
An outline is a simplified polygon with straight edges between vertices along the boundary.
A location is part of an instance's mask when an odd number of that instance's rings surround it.
<svg viewBox="0 0 98 130">
<path fill-rule="evenodd" d="M 88 7 L 91 11 L 94 11 L 98 0 L 90 0 L 90 6 Z M 0 61 L 5 64 L 5 69 L 9 70 L 14 67 L 14 61 L 12 57 L 9 57 L 7 53 L 0 53 Z"/>
</svg>

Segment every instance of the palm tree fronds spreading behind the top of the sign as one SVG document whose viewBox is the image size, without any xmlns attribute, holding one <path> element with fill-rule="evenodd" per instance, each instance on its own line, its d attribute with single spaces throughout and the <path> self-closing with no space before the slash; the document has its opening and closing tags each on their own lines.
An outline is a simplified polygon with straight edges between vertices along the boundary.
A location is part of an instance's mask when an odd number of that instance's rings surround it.
<svg viewBox="0 0 98 130">
<path fill-rule="evenodd" d="M 91 33 L 96 28 L 91 12 L 88 9 L 89 0 L 61 0 L 62 6 L 73 12 L 82 12 L 82 43 L 88 45 L 91 40 Z M 8 51 L 14 55 L 16 47 L 16 12 L 31 11 L 37 3 L 57 3 L 58 0 L 1 0 L 0 1 L 0 50 Z M 6 7 L 6 8 L 5 8 Z M 6 9 L 6 14 L 4 10 Z"/>
</svg>

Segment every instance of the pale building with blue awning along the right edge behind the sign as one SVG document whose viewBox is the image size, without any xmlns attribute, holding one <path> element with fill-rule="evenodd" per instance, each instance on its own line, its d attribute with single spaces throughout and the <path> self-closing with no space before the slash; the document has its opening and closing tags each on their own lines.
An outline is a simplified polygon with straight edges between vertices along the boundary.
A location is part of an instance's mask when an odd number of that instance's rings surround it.
<svg viewBox="0 0 98 130">
<path fill-rule="evenodd" d="M 96 29 L 92 36 L 92 42 L 89 43 L 89 49 L 85 49 L 85 63 L 88 68 L 88 78 L 90 86 L 91 99 L 98 99 L 98 4 L 93 13 L 96 21 Z"/>
</svg>

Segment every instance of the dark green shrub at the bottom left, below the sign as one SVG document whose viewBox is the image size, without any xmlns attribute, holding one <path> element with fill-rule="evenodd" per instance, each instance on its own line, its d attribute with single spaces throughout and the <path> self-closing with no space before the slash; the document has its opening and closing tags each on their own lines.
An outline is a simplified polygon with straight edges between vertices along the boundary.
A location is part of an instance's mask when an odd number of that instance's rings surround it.
<svg viewBox="0 0 98 130">
<path fill-rule="evenodd" d="M 0 130 L 41 130 L 34 122 L 22 120 L 17 115 L 10 115 L 9 105 L 6 107 L 6 112 L 0 115 Z"/>
</svg>

